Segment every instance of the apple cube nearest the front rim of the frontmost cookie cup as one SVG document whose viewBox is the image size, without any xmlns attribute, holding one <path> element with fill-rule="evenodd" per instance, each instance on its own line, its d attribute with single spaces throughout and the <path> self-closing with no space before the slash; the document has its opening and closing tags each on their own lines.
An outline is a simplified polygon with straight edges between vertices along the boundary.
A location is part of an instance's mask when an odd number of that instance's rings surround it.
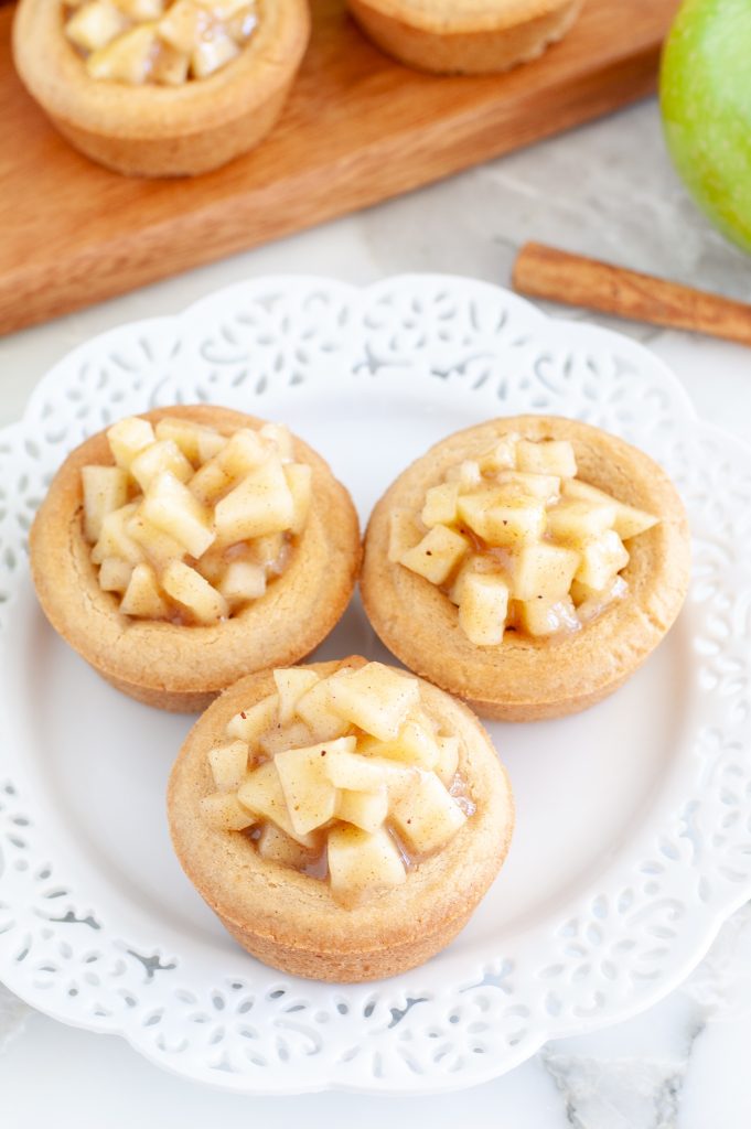
<svg viewBox="0 0 751 1129">
<path fill-rule="evenodd" d="M 350 824 L 329 834 L 329 878 L 338 902 L 351 905 L 374 890 L 399 886 L 407 879 L 402 856 L 387 831 L 363 831 Z"/>
</svg>

